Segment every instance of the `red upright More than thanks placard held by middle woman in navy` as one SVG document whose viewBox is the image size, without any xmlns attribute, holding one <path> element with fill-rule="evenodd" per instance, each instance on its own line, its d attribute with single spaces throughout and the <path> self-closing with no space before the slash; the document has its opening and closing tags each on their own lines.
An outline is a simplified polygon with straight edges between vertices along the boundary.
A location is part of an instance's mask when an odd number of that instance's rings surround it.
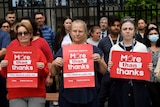
<svg viewBox="0 0 160 107">
<path fill-rule="evenodd" d="M 64 88 L 95 87 L 92 54 L 90 44 L 63 46 Z"/>
</svg>

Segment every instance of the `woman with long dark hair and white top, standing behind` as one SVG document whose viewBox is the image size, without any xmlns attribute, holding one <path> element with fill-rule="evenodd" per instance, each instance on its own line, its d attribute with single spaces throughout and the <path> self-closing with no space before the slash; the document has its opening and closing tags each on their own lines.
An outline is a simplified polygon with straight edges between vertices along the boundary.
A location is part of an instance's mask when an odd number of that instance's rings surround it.
<svg viewBox="0 0 160 107">
<path fill-rule="evenodd" d="M 69 16 L 66 16 L 63 19 L 61 31 L 60 33 L 57 33 L 55 37 L 55 42 L 54 42 L 54 47 L 55 47 L 54 53 L 55 54 L 61 48 L 61 46 L 71 43 L 72 40 L 69 35 L 69 32 L 71 30 L 71 23 L 72 23 L 72 19 Z"/>
</svg>

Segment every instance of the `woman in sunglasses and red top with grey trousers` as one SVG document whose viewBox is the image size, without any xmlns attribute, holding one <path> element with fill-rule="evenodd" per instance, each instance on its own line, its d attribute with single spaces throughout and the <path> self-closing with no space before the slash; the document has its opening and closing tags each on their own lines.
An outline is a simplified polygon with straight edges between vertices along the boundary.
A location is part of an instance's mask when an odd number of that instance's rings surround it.
<svg viewBox="0 0 160 107">
<path fill-rule="evenodd" d="M 31 40 L 33 37 L 33 28 L 30 23 L 18 23 L 14 28 L 15 36 L 19 41 L 19 46 L 23 48 L 33 47 L 31 46 Z M 16 46 L 9 46 L 16 47 Z M 36 88 L 31 87 L 14 87 L 8 88 L 8 99 L 10 107 L 45 107 L 45 80 L 48 76 L 49 70 L 47 66 L 47 60 L 39 48 L 34 47 L 34 51 L 38 54 L 34 59 L 31 59 L 33 62 L 36 62 L 38 68 L 38 83 Z M 5 59 L 1 61 L 1 67 L 4 77 L 7 76 L 7 65 L 8 58 L 10 53 L 7 53 Z M 18 71 L 17 71 L 18 72 Z M 24 70 L 25 72 L 25 70 Z M 7 78 L 9 78 L 7 76 Z"/>
</svg>

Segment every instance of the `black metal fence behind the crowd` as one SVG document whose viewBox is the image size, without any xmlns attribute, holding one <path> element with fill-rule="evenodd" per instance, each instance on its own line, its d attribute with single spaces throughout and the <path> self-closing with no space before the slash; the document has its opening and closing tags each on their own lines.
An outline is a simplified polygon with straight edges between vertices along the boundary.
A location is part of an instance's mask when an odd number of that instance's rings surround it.
<svg viewBox="0 0 160 107">
<path fill-rule="evenodd" d="M 60 2 L 61 1 L 61 2 Z M 98 25 L 102 16 L 109 17 L 116 15 L 121 18 L 131 16 L 137 21 L 138 18 L 144 18 L 147 21 L 159 23 L 160 7 L 158 5 L 146 6 L 125 6 L 123 0 L 118 4 L 109 5 L 105 0 L 0 0 L 1 18 L 5 17 L 8 10 L 14 10 L 17 19 L 23 16 L 33 17 L 36 11 L 45 14 L 47 24 L 53 30 L 59 30 L 62 25 L 62 19 L 65 16 L 71 16 L 73 19 L 84 20 L 88 27 Z"/>
</svg>

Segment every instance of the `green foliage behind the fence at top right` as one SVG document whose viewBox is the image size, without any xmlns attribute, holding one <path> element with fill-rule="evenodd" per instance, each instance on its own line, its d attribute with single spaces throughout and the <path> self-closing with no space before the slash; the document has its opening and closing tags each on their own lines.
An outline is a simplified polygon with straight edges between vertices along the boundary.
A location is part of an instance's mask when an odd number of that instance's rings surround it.
<svg viewBox="0 0 160 107">
<path fill-rule="evenodd" d="M 121 9 L 124 13 L 120 14 L 120 17 L 131 16 L 135 19 L 144 18 L 151 21 L 159 17 L 158 9 L 160 10 L 160 4 L 157 3 L 157 0 L 126 0 Z"/>
</svg>

